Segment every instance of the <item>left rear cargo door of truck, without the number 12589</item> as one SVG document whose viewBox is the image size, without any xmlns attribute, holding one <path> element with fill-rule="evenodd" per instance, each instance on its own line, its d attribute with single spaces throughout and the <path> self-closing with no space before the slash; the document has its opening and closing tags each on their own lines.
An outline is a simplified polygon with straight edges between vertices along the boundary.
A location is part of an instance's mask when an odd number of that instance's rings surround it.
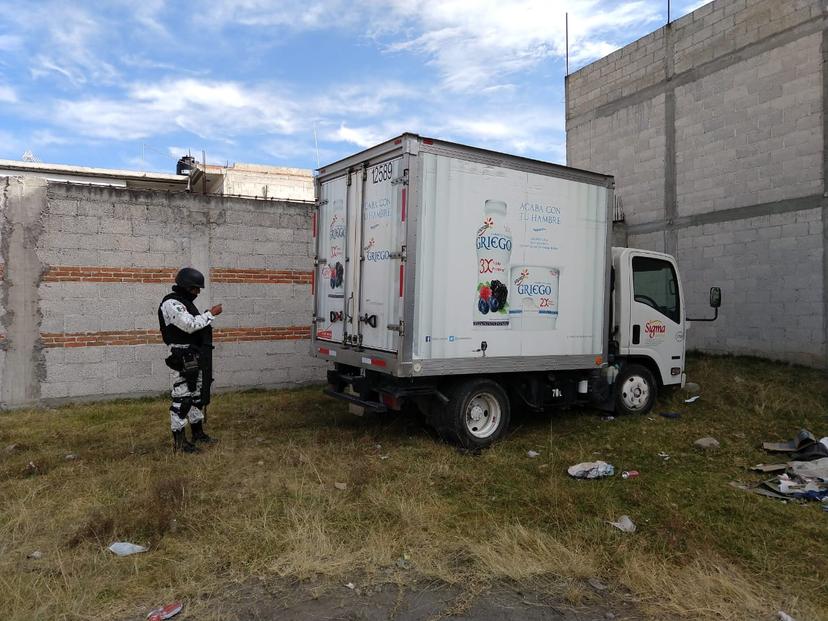
<svg viewBox="0 0 828 621">
<path fill-rule="evenodd" d="M 341 343 L 345 313 L 348 178 L 326 181 L 320 188 L 316 228 L 316 337 Z"/>
</svg>

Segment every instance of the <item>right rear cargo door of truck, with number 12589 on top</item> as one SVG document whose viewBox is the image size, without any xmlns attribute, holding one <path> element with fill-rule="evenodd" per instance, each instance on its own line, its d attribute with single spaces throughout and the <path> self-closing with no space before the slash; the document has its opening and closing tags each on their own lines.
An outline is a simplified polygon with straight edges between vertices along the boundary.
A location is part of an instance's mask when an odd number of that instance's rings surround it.
<svg viewBox="0 0 828 621">
<path fill-rule="evenodd" d="M 403 158 L 369 166 L 364 179 L 359 278 L 362 346 L 396 351 L 402 319 L 407 186 Z"/>
</svg>

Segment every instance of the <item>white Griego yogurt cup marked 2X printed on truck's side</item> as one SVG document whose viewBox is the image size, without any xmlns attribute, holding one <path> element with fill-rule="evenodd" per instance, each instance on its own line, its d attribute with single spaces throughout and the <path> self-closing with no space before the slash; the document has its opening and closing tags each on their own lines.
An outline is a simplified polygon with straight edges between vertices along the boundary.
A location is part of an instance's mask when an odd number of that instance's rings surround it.
<svg viewBox="0 0 828 621">
<path fill-rule="evenodd" d="M 557 267 L 516 265 L 509 278 L 509 317 L 515 330 L 554 330 L 558 322 Z"/>
</svg>

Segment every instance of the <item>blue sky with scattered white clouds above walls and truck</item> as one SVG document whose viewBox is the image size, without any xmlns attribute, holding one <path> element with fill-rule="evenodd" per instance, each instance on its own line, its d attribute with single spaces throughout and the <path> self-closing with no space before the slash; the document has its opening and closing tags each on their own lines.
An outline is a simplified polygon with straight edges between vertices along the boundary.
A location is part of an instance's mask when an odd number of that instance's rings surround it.
<svg viewBox="0 0 828 621">
<path fill-rule="evenodd" d="M 705 4 L 672 0 L 673 19 Z M 0 158 L 315 168 L 403 131 L 564 162 L 570 70 L 666 0 L 0 0 Z M 143 153 L 143 158 L 142 158 Z"/>
</svg>

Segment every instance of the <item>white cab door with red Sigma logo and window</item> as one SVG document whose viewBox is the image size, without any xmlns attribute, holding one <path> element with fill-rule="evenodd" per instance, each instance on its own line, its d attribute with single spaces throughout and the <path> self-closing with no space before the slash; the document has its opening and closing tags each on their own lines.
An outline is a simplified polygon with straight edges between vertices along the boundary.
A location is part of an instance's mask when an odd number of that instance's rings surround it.
<svg viewBox="0 0 828 621">
<path fill-rule="evenodd" d="M 680 384 L 685 330 L 678 270 L 655 254 L 632 254 L 630 268 L 629 354 L 652 358 L 665 385 Z"/>
</svg>

